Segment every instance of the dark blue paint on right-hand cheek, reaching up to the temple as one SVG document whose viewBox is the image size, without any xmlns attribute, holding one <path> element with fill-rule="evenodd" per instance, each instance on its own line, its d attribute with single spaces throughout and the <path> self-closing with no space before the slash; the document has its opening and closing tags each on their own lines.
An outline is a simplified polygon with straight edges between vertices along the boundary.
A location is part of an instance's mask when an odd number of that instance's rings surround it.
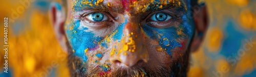
<svg viewBox="0 0 256 77">
<path fill-rule="evenodd" d="M 182 33 L 184 35 L 178 35 L 177 30 L 178 28 L 176 27 L 169 27 L 165 29 L 157 29 L 154 27 L 151 27 L 150 25 L 144 24 L 142 27 L 143 31 L 145 34 L 152 38 L 152 39 L 158 39 L 159 44 L 163 49 L 166 49 L 166 52 L 171 55 L 171 50 L 174 49 L 175 47 L 181 47 L 182 45 L 180 44 L 181 42 L 178 42 L 176 39 L 184 38 L 186 39 L 188 36 L 188 39 L 190 41 L 194 28 L 191 27 L 189 22 L 187 21 L 186 15 L 182 17 L 182 22 L 179 25 L 179 28 L 182 29 Z"/>
</svg>

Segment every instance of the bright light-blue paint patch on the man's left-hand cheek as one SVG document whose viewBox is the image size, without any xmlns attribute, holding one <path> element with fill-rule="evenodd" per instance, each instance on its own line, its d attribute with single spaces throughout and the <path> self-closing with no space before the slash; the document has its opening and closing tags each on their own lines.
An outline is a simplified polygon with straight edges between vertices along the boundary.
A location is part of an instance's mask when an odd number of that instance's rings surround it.
<svg viewBox="0 0 256 77">
<path fill-rule="evenodd" d="M 91 32 L 85 32 L 87 28 L 78 29 L 80 26 L 80 20 L 76 20 L 74 23 L 73 30 L 67 30 L 69 41 L 75 50 L 74 55 L 80 57 L 84 62 L 88 60 L 84 54 L 84 50 L 87 48 L 94 48 L 102 37 L 94 36 Z"/>
</svg>

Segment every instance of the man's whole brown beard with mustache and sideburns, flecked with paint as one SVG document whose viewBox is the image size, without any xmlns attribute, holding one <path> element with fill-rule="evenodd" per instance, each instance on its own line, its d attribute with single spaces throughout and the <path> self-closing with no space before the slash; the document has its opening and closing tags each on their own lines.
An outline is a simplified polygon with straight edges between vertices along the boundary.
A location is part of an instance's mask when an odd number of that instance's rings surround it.
<svg viewBox="0 0 256 77">
<path fill-rule="evenodd" d="M 108 73 L 103 73 L 102 69 L 96 68 L 98 66 L 88 65 L 84 63 L 79 57 L 75 56 L 72 48 L 69 46 L 68 64 L 71 76 L 186 76 L 188 70 L 189 48 L 183 56 L 177 60 L 173 60 L 169 66 L 155 66 L 147 67 L 147 63 L 140 66 L 133 66 L 131 68 L 116 68 Z M 104 67 L 100 67 L 103 68 Z M 102 73 L 101 73 L 102 72 Z"/>
</svg>

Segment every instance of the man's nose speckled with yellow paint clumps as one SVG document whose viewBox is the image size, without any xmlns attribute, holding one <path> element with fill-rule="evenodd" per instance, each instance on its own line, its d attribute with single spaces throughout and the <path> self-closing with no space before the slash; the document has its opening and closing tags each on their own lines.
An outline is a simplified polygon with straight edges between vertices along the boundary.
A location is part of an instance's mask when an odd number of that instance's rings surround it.
<svg viewBox="0 0 256 77">
<path fill-rule="evenodd" d="M 127 21 L 122 30 L 121 40 L 112 49 L 110 61 L 117 66 L 132 67 L 148 61 L 139 23 Z"/>
</svg>

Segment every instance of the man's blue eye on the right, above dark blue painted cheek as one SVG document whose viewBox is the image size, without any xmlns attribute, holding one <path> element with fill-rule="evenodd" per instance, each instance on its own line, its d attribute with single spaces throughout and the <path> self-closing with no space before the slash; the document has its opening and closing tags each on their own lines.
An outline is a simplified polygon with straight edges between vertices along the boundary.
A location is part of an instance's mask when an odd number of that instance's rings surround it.
<svg viewBox="0 0 256 77">
<path fill-rule="evenodd" d="M 170 17 L 170 15 L 165 14 L 165 13 L 156 13 L 154 14 L 151 19 L 155 20 L 155 21 L 166 21 L 171 19 L 172 17 Z"/>
</svg>

